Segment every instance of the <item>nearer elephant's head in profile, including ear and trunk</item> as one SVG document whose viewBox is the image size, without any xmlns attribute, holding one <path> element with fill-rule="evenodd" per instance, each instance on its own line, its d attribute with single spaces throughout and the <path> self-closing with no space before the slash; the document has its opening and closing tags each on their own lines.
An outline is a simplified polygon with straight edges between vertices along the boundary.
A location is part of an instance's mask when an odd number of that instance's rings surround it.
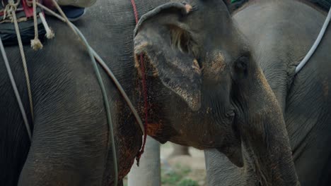
<svg viewBox="0 0 331 186">
<path fill-rule="evenodd" d="M 297 179 L 277 100 L 225 2 L 153 9 L 134 31 L 134 54 L 136 66 L 146 66 L 149 135 L 219 149 L 237 166 L 245 145 L 261 178 Z"/>
</svg>

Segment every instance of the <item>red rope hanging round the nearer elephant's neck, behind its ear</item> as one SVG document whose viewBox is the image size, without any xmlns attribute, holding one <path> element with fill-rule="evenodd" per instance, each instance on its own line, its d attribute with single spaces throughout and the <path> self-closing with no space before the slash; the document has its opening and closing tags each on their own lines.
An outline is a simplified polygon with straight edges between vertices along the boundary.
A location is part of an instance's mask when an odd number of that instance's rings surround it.
<svg viewBox="0 0 331 186">
<path fill-rule="evenodd" d="M 131 0 L 131 4 L 134 9 L 134 18 L 136 19 L 136 25 L 137 25 L 138 20 L 139 20 L 137 6 L 136 6 L 136 3 L 134 2 L 134 0 Z M 146 130 L 147 119 L 149 118 L 149 104 L 147 101 L 148 94 L 147 94 L 147 85 L 146 85 L 146 75 L 145 75 L 144 58 L 143 58 L 142 54 L 140 54 L 140 63 L 141 63 L 140 66 L 141 66 L 141 76 L 142 76 L 142 88 L 143 88 L 143 92 L 144 92 L 144 112 L 145 112 L 144 130 L 145 130 L 145 132 L 144 132 L 143 144 L 136 156 L 137 166 L 139 166 L 139 161 L 140 161 L 141 155 L 144 154 L 144 149 L 145 149 L 145 145 L 146 145 L 146 137 L 147 137 L 147 130 Z"/>
</svg>

